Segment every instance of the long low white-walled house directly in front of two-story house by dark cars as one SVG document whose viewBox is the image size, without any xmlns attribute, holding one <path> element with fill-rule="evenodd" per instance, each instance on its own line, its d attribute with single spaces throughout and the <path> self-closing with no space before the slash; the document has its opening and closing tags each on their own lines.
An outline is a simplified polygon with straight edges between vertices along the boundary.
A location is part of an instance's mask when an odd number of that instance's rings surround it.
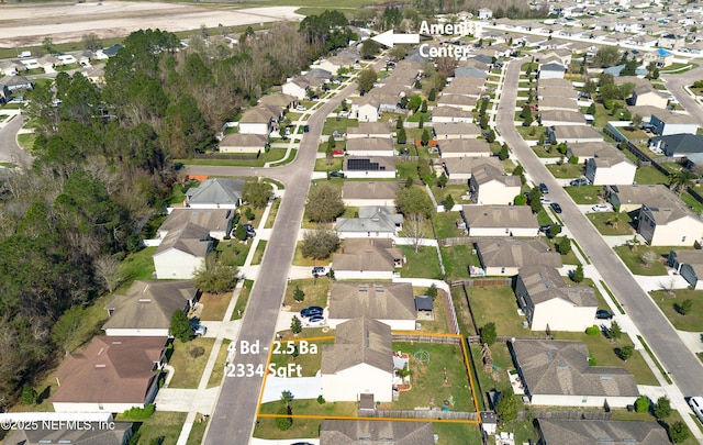
<svg viewBox="0 0 703 445">
<path fill-rule="evenodd" d="M 537 216 L 528 205 L 462 205 L 470 236 L 536 236 Z"/>
</svg>

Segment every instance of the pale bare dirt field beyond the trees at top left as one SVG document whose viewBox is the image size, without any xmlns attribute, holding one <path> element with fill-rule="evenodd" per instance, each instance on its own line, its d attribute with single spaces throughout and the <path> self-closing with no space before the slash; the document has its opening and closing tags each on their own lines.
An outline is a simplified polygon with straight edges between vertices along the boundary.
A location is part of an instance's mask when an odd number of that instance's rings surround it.
<svg viewBox="0 0 703 445">
<path fill-rule="evenodd" d="M 0 47 L 77 42 L 83 34 L 101 38 L 126 36 L 140 29 L 172 32 L 205 27 L 301 20 L 294 7 L 236 9 L 226 5 L 88 1 L 0 5 Z"/>
</svg>

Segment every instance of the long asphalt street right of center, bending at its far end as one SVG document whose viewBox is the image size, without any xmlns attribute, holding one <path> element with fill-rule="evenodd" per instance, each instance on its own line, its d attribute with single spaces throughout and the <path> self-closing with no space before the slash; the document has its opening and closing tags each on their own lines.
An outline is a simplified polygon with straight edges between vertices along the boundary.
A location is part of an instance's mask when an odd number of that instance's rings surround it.
<svg viewBox="0 0 703 445">
<path fill-rule="evenodd" d="M 509 64 L 503 94 L 498 112 L 498 129 L 522 163 L 525 171 L 535 182 L 545 182 L 549 187 L 549 199 L 561 204 L 561 219 L 568 225 L 573 237 L 585 255 L 601 274 L 617 301 L 623 305 L 646 342 L 677 383 L 683 396 L 696 396 L 703 391 L 703 366 L 685 347 L 673 327 L 641 290 L 629 270 L 605 243 L 591 222 L 579 211 L 554 176 L 539 162 L 534 152 L 515 130 L 514 108 L 520 78 L 520 66 L 524 60 Z M 507 86 L 507 87 L 505 87 Z M 696 107 L 698 108 L 698 107 Z M 645 353 L 646 354 L 646 353 Z"/>
</svg>

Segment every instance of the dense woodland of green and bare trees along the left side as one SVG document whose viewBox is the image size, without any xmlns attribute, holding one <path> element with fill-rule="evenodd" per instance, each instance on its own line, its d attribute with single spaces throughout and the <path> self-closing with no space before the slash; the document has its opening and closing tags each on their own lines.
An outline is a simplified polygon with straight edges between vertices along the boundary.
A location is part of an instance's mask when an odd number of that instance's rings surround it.
<svg viewBox="0 0 703 445">
<path fill-rule="evenodd" d="M 233 47 L 137 31 L 102 88 L 59 73 L 27 92 L 34 162 L 0 185 L 0 410 L 54 364 L 53 351 L 68 352 L 83 308 L 114 290 L 118 268 L 107 265 L 141 248 L 138 230 L 179 180 L 172 159 L 213 147 L 223 122 L 263 91 L 346 46 L 344 15 L 322 16 Z"/>
</svg>

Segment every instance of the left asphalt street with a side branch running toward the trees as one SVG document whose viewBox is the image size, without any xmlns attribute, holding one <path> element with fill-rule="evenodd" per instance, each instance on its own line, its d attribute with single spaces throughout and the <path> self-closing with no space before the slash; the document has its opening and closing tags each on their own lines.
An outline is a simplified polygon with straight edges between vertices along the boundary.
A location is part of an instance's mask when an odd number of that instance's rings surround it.
<svg viewBox="0 0 703 445">
<path fill-rule="evenodd" d="M 347 86 L 327 103 L 312 114 L 308 121 L 310 132 L 303 135 L 295 160 L 282 167 L 266 169 L 261 176 L 272 177 L 286 185 L 286 196 L 281 201 L 274 224 L 268 247 L 261 260 L 259 278 L 255 281 L 237 344 L 234 366 L 265 367 L 268 347 L 274 341 L 276 320 L 281 308 L 288 281 L 295 240 L 303 216 L 303 207 L 310 188 L 322 126 L 342 101 L 356 89 L 356 84 Z M 193 175 L 250 176 L 252 168 L 190 166 Z M 242 342 L 261 345 L 260 354 L 241 354 Z M 267 349 L 264 349 L 264 348 Z M 235 368 L 236 370 L 237 368 Z M 246 370 L 246 368 L 245 368 Z M 263 377 L 227 377 L 220 391 L 220 398 L 211 419 L 205 444 L 247 444 L 256 418 Z"/>
</svg>

